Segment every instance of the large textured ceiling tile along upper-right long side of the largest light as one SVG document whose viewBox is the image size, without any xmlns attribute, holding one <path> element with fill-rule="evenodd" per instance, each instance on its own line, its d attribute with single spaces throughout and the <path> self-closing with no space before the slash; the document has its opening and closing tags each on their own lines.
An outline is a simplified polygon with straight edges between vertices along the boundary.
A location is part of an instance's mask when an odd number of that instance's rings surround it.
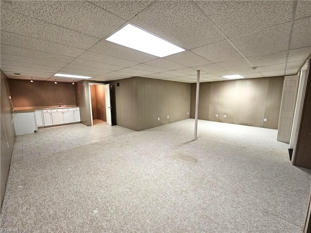
<svg viewBox="0 0 311 233">
<path fill-rule="evenodd" d="M 157 1 L 131 22 L 184 49 L 225 39 L 190 1 Z"/>
</svg>

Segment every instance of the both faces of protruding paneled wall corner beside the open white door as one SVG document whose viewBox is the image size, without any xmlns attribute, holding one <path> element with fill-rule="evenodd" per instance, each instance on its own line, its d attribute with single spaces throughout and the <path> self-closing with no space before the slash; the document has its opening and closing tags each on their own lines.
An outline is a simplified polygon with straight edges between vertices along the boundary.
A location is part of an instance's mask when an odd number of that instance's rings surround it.
<svg viewBox="0 0 311 233">
<path fill-rule="evenodd" d="M 189 83 L 133 77 L 110 85 L 120 126 L 140 131 L 190 117 Z"/>
</svg>

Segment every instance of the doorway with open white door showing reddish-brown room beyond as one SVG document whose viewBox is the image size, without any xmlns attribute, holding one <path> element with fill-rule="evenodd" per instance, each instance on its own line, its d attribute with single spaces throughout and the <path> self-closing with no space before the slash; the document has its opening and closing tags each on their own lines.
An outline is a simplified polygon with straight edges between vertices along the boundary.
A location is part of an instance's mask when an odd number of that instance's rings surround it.
<svg viewBox="0 0 311 233">
<path fill-rule="evenodd" d="M 107 123 L 111 126 L 109 84 L 88 83 L 91 125 Z"/>
</svg>

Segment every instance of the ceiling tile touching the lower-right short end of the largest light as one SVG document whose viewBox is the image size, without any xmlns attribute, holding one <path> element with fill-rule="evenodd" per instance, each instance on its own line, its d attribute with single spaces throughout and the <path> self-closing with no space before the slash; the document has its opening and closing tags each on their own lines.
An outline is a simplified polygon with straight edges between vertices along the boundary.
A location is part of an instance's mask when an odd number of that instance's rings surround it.
<svg viewBox="0 0 311 233">
<path fill-rule="evenodd" d="M 173 55 L 165 57 L 165 59 L 188 66 L 188 67 L 203 66 L 203 65 L 211 64 L 210 61 L 207 61 L 206 59 L 196 55 L 190 50 L 175 53 Z"/>
</svg>

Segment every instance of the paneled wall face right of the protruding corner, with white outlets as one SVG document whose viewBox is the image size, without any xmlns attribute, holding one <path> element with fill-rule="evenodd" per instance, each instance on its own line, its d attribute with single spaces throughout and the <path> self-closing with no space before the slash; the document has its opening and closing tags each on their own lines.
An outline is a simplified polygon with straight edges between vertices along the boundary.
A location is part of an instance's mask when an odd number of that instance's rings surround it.
<svg viewBox="0 0 311 233">
<path fill-rule="evenodd" d="M 190 88 L 189 83 L 138 77 L 138 130 L 189 118 Z"/>
</svg>

